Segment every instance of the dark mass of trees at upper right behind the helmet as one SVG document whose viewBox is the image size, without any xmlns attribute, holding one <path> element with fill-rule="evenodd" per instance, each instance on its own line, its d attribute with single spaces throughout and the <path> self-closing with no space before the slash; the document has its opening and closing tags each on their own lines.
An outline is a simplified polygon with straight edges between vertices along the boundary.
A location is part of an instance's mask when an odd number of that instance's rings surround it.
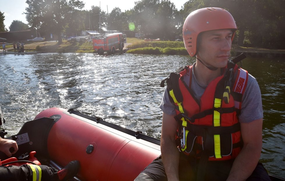
<svg viewBox="0 0 285 181">
<path fill-rule="evenodd" d="M 273 0 L 190 0 L 180 15 L 185 19 L 190 12 L 205 7 L 228 10 L 238 26 L 238 45 L 263 48 L 285 48 L 285 1 Z"/>
</svg>

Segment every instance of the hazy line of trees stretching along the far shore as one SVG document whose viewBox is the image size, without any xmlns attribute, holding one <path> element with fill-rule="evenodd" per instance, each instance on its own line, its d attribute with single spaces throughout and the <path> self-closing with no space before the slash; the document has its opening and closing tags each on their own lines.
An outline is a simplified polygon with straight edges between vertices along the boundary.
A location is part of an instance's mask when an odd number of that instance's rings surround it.
<svg viewBox="0 0 285 181">
<path fill-rule="evenodd" d="M 235 44 L 285 49 L 285 0 L 189 0 L 180 10 L 170 0 L 140 0 L 125 12 L 119 7 L 105 12 L 98 6 L 82 10 L 84 3 L 80 0 L 27 0 L 26 3 L 28 7 L 24 14 L 29 26 L 59 37 L 61 33 L 72 35 L 84 30 L 103 32 L 107 29 L 135 31 L 162 40 L 182 36 L 184 20 L 193 10 L 221 7 L 233 15 L 238 26 Z M 0 12 L 1 31 L 4 27 L 2 17 Z"/>
</svg>

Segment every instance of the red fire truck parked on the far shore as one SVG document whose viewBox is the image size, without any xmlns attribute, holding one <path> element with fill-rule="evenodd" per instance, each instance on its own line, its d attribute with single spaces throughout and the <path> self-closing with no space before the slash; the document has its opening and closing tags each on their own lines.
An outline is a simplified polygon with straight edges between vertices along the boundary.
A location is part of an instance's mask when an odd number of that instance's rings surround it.
<svg viewBox="0 0 285 181">
<path fill-rule="evenodd" d="M 123 33 L 111 33 L 93 37 L 93 49 L 97 53 L 114 53 L 116 49 L 123 50 L 126 35 Z"/>
</svg>

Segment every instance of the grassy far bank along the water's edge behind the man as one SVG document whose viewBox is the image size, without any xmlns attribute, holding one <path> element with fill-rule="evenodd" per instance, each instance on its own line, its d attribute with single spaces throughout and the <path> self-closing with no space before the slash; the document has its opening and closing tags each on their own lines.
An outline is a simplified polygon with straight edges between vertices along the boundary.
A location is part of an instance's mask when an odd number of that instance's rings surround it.
<svg viewBox="0 0 285 181">
<path fill-rule="evenodd" d="M 2 48 L 2 47 L 1 47 Z M 92 42 L 69 42 L 64 40 L 58 42 L 26 42 L 25 51 L 38 52 L 59 52 L 59 53 L 95 53 Z M 183 42 L 159 41 L 145 42 L 137 38 L 128 38 L 125 48 L 129 48 L 127 53 L 135 54 L 155 54 L 155 55 L 188 55 Z M 14 51 L 13 45 L 6 45 L 8 51 Z M 232 55 L 235 52 L 245 53 L 279 53 L 285 54 L 285 50 L 272 50 L 260 48 L 247 48 L 233 45 Z"/>
</svg>

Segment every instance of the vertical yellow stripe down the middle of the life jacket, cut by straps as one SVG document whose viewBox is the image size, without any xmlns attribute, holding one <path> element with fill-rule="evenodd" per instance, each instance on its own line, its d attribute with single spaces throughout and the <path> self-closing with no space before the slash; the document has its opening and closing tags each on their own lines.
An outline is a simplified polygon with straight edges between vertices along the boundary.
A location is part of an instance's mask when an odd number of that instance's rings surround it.
<svg viewBox="0 0 285 181">
<path fill-rule="evenodd" d="M 221 99 L 215 98 L 214 102 L 215 108 L 221 107 Z M 221 126 L 220 124 L 220 113 L 219 111 L 214 110 L 214 126 Z M 221 158 L 221 142 L 220 135 L 214 135 L 214 149 L 215 149 L 215 158 Z"/>
</svg>

